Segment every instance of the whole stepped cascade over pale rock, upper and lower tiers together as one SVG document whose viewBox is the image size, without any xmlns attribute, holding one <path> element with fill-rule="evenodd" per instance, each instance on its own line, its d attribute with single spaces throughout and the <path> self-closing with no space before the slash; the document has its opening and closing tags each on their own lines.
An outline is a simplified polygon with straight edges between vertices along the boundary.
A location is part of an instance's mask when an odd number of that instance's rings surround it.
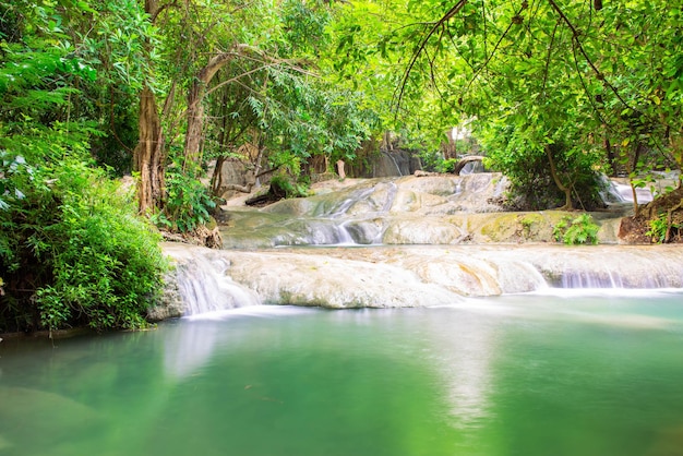
<svg viewBox="0 0 683 456">
<path fill-rule="evenodd" d="M 177 264 L 181 313 L 257 304 L 452 305 L 555 289 L 683 289 L 679 247 L 619 245 L 619 214 L 609 213 L 596 217 L 601 243 L 611 244 L 547 242 L 566 213 L 500 212 L 489 203 L 504 191 L 496 175 L 338 185 L 260 211 L 235 209 L 223 231 L 224 251 L 166 245 Z"/>
</svg>

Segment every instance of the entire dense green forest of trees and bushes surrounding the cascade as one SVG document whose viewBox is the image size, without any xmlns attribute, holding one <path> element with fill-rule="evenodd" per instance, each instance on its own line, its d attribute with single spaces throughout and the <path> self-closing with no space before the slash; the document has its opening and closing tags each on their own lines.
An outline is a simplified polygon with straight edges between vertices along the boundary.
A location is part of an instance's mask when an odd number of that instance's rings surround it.
<svg viewBox="0 0 683 456">
<path fill-rule="evenodd" d="M 683 163 L 682 22 L 663 0 L 0 0 L 0 332 L 143 326 L 155 226 L 209 221 L 211 163 L 296 195 L 392 141 L 447 170 L 467 124 L 529 207 L 647 185 Z"/>
</svg>

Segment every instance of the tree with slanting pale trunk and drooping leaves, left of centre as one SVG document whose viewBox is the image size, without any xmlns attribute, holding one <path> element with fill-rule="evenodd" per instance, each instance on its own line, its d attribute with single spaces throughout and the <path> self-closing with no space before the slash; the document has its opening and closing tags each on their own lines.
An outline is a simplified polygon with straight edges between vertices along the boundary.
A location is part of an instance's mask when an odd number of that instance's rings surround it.
<svg viewBox="0 0 683 456">
<path fill-rule="evenodd" d="M 352 157 L 366 137 L 366 112 L 355 103 L 355 94 L 334 89 L 313 63 L 327 50 L 329 8 L 322 1 L 299 0 L 278 7 L 261 13 L 268 17 L 259 21 L 260 29 L 269 26 L 265 37 L 243 29 L 233 31 L 229 39 L 202 32 L 202 45 L 215 45 L 209 46 L 212 57 L 196 67 L 188 83 L 183 170 L 205 158 L 223 163 L 226 154 L 235 156 L 249 142 L 257 151 L 251 164 L 255 173 L 261 168 L 281 168 L 296 177 L 309 157 Z M 248 12 L 239 10 L 255 23 L 253 12 Z M 227 112 L 226 106 L 235 110 Z M 220 128 L 215 122 L 206 128 L 206 110 L 221 112 L 216 118 Z M 225 130 L 233 134 L 226 136 Z M 219 140 L 212 136 L 214 132 Z M 212 152 L 209 145 L 205 156 L 206 144 L 227 145 L 227 149 Z"/>
</svg>

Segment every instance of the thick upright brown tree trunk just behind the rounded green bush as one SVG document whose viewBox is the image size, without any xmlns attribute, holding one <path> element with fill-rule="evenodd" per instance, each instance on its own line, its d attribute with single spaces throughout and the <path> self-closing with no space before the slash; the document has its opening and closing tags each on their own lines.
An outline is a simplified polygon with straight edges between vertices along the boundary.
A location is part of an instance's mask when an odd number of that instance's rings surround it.
<svg viewBox="0 0 683 456">
<path fill-rule="evenodd" d="M 134 169 L 140 173 L 137 200 L 141 214 L 158 207 L 164 195 L 164 137 L 156 98 L 149 87 L 140 95 L 139 140 L 133 153 Z"/>
</svg>

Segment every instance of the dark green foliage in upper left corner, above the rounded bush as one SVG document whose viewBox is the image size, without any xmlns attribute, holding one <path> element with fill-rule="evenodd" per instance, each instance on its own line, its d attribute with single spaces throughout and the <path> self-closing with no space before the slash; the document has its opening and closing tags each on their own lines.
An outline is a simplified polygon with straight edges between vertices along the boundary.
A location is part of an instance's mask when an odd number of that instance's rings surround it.
<svg viewBox="0 0 683 456">
<path fill-rule="evenodd" d="M 87 124 L 99 132 L 88 133 L 93 156 L 130 172 L 135 94 L 152 73 L 145 46 L 156 43 L 140 4 L 0 0 L 0 31 L 8 28 L 7 39 L 0 35 L 2 133 L 31 144 L 24 139 Z"/>
</svg>

